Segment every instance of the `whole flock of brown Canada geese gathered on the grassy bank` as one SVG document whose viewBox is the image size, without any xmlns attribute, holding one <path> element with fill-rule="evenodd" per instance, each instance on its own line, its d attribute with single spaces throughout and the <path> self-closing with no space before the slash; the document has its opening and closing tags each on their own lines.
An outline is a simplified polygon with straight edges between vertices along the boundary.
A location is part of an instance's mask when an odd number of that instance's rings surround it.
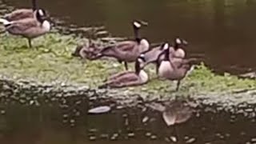
<svg viewBox="0 0 256 144">
<path fill-rule="evenodd" d="M 30 47 L 32 47 L 31 40 L 33 38 L 46 34 L 51 28 L 46 11 L 38 8 L 36 0 L 32 0 L 32 3 L 32 9 L 14 10 L 0 18 L 0 23 L 3 24 L 7 32 L 27 38 Z M 158 77 L 178 81 L 176 87 L 178 90 L 181 80 L 186 77 L 196 60 L 196 58 L 186 58 L 185 48 L 188 43 L 182 38 L 175 38 L 172 44 L 162 42 L 158 46 L 150 46 L 150 42 L 139 35 L 139 30 L 146 26 L 146 22 L 134 21 L 132 25 L 134 28 L 133 40 L 117 42 L 114 46 L 100 49 L 94 47 L 90 52 L 94 60 L 102 57 L 115 58 L 118 62 L 123 62 L 126 69 L 110 76 L 99 88 L 120 88 L 146 84 L 150 78 L 144 68 L 150 63 L 154 63 Z M 86 58 L 89 48 L 91 47 L 78 47 L 73 55 Z M 134 71 L 128 70 L 127 62 L 135 62 Z"/>
</svg>

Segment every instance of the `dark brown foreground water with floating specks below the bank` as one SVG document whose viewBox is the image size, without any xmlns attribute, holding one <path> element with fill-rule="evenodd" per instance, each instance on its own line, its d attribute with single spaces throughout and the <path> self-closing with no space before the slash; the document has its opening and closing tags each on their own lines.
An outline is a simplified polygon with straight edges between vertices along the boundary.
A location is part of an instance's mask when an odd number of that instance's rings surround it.
<svg viewBox="0 0 256 144">
<path fill-rule="evenodd" d="M 62 99 L 62 100 L 61 100 Z M 197 143 L 240 144 L 256 142 L 254 108 L 233 115 L 204 107 L 187 122 L 166 126 L 162 113 L 143 106 L 113 109 L 108 114 L 87 114 L 85 97 L 48 101 L 41 106 L 1 99 L 0 142 L 3 144 Z M 77 103 L 79 102 L 79 104 Z M 3 107 L 4 106 L 4 107 Z M 147 117 L 147 120 L 146 120 Z M 173 142 L 174 138 L 178 142 Z"/>
</svg>

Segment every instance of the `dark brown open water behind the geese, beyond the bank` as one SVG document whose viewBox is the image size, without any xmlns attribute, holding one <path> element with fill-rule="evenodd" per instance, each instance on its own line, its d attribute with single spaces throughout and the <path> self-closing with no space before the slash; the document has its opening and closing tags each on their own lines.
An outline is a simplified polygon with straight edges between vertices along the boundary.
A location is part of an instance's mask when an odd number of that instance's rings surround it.
<svg viewBox="0 0 256 144">
<path fill-rule="evenodd" d="M 30 6 L 30 0 L 6 0 Z M 215 70 L 244 72 L 256 68 L 255 0 L 43 0 L 40 6 L 54 17 L 78 26 L 104 25 L 114 36 L 132 35 L 130 22 L 150 23 L 143 35 L 150 42 L 190 42 L 191 55 L 202 54 Z"/>
</svg>

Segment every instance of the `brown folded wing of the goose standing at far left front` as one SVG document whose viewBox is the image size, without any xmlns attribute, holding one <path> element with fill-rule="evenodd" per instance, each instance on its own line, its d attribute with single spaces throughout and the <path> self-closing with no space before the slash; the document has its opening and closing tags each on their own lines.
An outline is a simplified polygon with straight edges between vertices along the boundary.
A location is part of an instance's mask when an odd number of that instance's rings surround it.
<svg viewBox="0 0 256 144">
<path fill-rule="evenodd" d="M 25 18 L 12 23 L 7 27 L 8 30 L 13 31 L 16 34 L 22 34 L 24 31 L 38 26 L 37 20 L 34 18 Z"/>
</svg>

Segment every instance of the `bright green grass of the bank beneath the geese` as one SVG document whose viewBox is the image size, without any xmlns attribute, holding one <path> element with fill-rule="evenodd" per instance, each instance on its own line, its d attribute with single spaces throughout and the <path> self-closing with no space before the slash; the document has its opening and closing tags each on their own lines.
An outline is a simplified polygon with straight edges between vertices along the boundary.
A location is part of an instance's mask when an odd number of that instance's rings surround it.
<svg viewBox="0 0 256 144">
<path fill-rule="evenodd" d="M 81 61 L 72 58 L 76 44 L 81 38 L 47 34 L 34 39 L 34 48 L 28 48 L 25 39 L 1 34 L 0 74 L 15 78 L 32 78 L 40 82 L 83 83 L 97 86 L 110 74 L 123 70 L 123 66 L 113 61 Z M 114 65 L 117 64 L 117 65 Z M 130 66 L 132 67 L 132 66 Z M 127 91 L 142 91 L 151 94 L 170 94 L 174 83 L 155 79 L 154 68 L 148 68 L 152 82 L 146 86 L 124 88 Z M 197 66 L 192 74 L 182 81 L 181 94 L 222 92 L 237 89 L 255 88 L 256 81 L 239 79 L 226 74 L 212 73 L 206 66 Z"/>
</svg>

